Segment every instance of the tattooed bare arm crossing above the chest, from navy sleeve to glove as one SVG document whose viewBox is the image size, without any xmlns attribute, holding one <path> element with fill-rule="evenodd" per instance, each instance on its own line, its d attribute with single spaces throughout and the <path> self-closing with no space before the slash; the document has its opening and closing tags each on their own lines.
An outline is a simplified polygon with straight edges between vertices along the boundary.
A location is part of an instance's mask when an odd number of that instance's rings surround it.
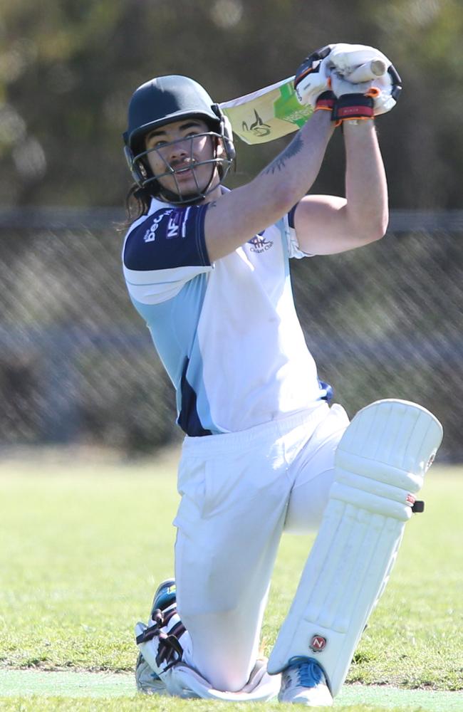
<svg viewBox="0 0 463 712">
<path fill-rule="evenodd" d="M 209 204 L 204 233 L 211 261 L 233 252 L 301 200 L 318 175 L 332 134 L 331 115 L 315 112 L 254 180 Z"/>
</svg>

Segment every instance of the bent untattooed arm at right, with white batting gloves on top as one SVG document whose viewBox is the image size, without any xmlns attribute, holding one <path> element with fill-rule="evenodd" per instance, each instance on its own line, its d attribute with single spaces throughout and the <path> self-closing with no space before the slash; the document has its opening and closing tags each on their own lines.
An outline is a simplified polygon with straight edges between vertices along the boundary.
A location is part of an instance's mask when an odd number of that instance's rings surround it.
<svg viewBox="0 0 463 712">
<path fill-rule="evenodd" d="M 383 67 L 379 76 L 373 71 L 377 59 Z M 374 117 L 394 108 L 402 89 L 392 63 L 373 47 L 338 44 L 324 63 L 335 99 L 333 120 L 343 126 L 345 198 L 311 196 L 298 204 L 294 214 L 298 243 L 312 254 L 343 252 L 385 234 L 387 183 Z M 302 94 L 305 82 L 302 75 Z"/>
</svg>

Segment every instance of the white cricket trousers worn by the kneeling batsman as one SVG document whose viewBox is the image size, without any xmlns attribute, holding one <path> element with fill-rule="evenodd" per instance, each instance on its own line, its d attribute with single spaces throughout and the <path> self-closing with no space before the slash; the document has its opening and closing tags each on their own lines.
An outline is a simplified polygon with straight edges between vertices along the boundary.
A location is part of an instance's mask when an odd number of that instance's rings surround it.
<svg viewBox="0 0 463 712">
<path fill-rule="evenodd" d="M 248 681 L 281 533 L 318 528 L 347 426 L 342 407 L 322 403 L 246 431 L 184 440 L 177 606 L 190 636 L 184 660 L 215 689 L 238 691 Z"/>
</svg>

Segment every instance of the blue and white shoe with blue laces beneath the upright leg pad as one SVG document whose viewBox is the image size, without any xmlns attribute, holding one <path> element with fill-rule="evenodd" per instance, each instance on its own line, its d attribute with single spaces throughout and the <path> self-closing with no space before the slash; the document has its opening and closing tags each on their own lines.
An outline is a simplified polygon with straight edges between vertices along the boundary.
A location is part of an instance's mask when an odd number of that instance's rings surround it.
<svg viewBox="0 0 463 712">
<path fill-rule="evenodd" d="M 293 657 L 281 673 L 279 702 L 291 702 L 306 707 L 330 707 L 333 697 L 326 677 L 316 661 Z"/>
</svg>

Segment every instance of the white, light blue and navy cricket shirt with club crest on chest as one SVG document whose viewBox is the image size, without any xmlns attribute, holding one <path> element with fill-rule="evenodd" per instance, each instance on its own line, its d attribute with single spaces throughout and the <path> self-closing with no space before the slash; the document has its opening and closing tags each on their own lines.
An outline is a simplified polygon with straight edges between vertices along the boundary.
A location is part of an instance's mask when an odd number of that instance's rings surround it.
<svg viewBox="0 0 463 712">
<path fill-rule="evenodd" d="M 311 409 L 329 388 L 318 380 L 294 308 L 288 258 L 304 254 L 291 217 L 211 264 L 207 207 L 152 199 L 123 247 L 130 298 L 175 386 L 177 423 L 190 436 Z"/>
</svg>

